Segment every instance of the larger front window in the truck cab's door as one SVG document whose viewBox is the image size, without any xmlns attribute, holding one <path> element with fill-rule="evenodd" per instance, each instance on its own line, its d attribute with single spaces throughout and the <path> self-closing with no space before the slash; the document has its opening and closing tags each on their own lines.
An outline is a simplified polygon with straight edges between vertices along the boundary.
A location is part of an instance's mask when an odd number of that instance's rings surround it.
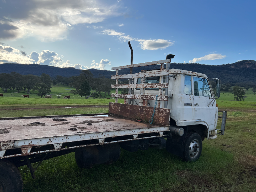
<svg viewBox="0 0 256 192">
<path fill-rule="evenodd" d="M 212 97 L 207 79 L 201 77 L 193 77 L 194 79 L 194 95 Z"/>
</svg>

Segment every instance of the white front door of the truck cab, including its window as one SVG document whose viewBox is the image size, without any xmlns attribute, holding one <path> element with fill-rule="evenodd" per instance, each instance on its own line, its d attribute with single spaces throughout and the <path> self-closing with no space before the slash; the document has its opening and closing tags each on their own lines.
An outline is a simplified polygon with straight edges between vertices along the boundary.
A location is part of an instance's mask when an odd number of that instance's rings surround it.
<svg viewBox="0 0 256 192">
<path fill-rule="evenodd" d="M 216 107 L 212 101 L 214 100 L 214 94 L 210 90 L 209 82 L 206 78 L 194 76 L 193 85 L 194 120 L 204 121 L 208 124 L 209 130 L 213 130 L 215 124 Z"/>
</svg>

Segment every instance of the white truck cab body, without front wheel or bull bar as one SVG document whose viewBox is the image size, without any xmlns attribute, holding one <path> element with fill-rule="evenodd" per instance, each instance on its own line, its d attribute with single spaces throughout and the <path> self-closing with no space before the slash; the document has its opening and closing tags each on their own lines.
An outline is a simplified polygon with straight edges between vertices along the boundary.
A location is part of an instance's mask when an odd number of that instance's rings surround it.
<svg viewBox="0 0 256 192">
<path fill-rule="evenodd" d="M 154 70 L 159 71 L 159 70 Z M 147 71 L 148 72 L 148 71 Z M 147 73 L 146 72 L 146 73 Z M 152 71 L 150 71 L 152 72 Z M 160 77 L 146 77 L 145 83 L 159 83 Z M 217 81 L 216 81 L 217 80 Z M 135 78 L 134 84 L 140 84 L 141 79 Z M 163 79 L 166 83 L 166 78 Z M 168 87 L 168 109 L 171 110 L 170 125 L 200 127 L 204 132 L 204 138 L 217 138 L 217 122 L 218 122 L 218 107 L 216 104 L 215 95 L 211 82 L 215 83 L 216 87 L 220 87 L 220 80 L 212 81 L 202 73 L 192 71 L 170 69 L 169 70 L 169 87 Z M 159 89 L 147 88 L 145 94 L 158 95 Z M 134 94 L 139 94 L 140 89 L 134 89 Z M 163 89 L 163 95 L 165 89 Z M 133 102 L 134 105 L 139 103 L 139 100 Z M 154 106 L 154 100 L 148 100 L 148 106 Z M 160 107 L 164 108 L 164 101 L 160 101 Z M 204 138 L 202 138 L 204 140 Z"/>
</svg>

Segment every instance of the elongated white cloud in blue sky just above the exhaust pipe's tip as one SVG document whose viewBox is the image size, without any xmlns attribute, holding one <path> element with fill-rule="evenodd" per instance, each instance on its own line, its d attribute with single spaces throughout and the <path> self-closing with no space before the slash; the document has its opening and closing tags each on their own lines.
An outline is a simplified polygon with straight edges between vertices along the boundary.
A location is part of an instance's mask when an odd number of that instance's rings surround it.
<svg viewBox="0 0 256 192">
<path fill-rule="evenodd" d="M 146 39 L 133 38 L 129 35 L 124 35 L 124 33 L 117 32 L 114 29 L 105 29 L 101 31 L 101 34 L 118 36 L 118 39 L 123 42 L 138 41 L 140 42 L 140 47 L 143 50 L 165 49 L 174 44 L 174 42 L 170 42 L 169 40 L 164 40 L 164 39 L 146 40 Z"/>
</svg>

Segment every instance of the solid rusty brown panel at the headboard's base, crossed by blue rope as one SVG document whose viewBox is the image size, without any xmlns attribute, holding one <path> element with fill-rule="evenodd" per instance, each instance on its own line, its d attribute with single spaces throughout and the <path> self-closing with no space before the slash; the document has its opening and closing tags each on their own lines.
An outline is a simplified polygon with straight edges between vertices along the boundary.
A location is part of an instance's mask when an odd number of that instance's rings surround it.
<svg viewBox="0 0 256 192">
<path fill-rule="evenodd" d="M 108 112 L 110 114 L 121 115 L 124 117 L 141 119 L 149 122 L 152 117 L 154 107 L 146 107 L 139 105 L 127 105 L 121 103 L 109 103 Z M 158 124 L 169 125 L 170 109 L 156 108 L 154 122 Z"/>
</svg>

